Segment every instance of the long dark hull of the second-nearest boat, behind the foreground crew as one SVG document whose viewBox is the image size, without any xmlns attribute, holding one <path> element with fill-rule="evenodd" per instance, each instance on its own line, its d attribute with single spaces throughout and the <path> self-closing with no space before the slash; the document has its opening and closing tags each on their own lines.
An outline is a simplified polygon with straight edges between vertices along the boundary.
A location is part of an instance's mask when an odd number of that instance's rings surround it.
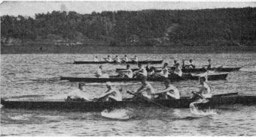
<svg viewBox="0 0 256 137">
<path fill-rule="evenodd" d="M 224 80 L 227 78 L 228 73 L 210 75 L 208 80 Z M 184 74 L 183 76 L 174 76 L 171 75 L 169 78 L 172 82 L 181 81 L 181 80 L 198 80 L 200 76 L 191 76 L 190 74 Z M 163 82 L 166 78 L 148 78 L 150 82 Z M 111 76 L 110 78 L 83 78 L 83 77 L 69 77 L 69 76 L 60 76 L 60 80 L 69 80 L 69 82 L 134 82 L 141 81 L 139 78 L 120 78 Z"/>
</svg>

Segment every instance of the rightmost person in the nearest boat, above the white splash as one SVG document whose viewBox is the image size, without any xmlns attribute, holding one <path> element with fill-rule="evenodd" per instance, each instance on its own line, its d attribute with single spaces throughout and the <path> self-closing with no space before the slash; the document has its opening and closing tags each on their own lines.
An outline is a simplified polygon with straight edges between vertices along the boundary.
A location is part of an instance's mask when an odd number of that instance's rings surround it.
<svg viewBox="0 0 256 137">
<path fill-rule="evenodd" d="M 200 85 L 201 85 L 200 91 L 194 92 L 195 94 L 193 94 L 193 96 L 191 98 L 194 98 L 197 95 L 199 95 L 203 99 L 211 98 L 212 97 L 211 88 L 206 83 L 206 77 L 200 77 Z"/>
</svg>

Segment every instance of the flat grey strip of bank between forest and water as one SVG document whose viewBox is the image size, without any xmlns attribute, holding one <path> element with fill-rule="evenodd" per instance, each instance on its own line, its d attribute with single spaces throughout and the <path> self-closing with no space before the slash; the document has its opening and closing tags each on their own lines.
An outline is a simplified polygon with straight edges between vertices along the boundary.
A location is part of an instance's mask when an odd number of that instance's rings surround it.
<svg viewBox="0 0 256 137">
<path fill-rule="evenodd" d="M 1 54 L 172 54 L 246 52 L 256 52 L 256 46 L 1 46 Z"/>
</svg>

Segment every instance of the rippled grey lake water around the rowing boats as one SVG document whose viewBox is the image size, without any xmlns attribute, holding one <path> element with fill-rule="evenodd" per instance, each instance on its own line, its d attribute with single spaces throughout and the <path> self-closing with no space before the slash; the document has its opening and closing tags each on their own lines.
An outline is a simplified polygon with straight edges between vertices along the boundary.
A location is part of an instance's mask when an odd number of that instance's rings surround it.
<svg viewBox="0 0 256 137">
<path fill-rule="evenodd" d="M 98 55 L 103 58 L 106 55 Z M 113 55 L 114 56 L 114 55 Z M 134 55 L 128 55 L 133 57 Z M 242 67 L 227 80 L 210 81 L 213 94 L 239 92 L 256 95 L 256 54 L 157 54 L 138 55 L 140 60 L 194 59 L 197 66 L 212 59 L 214 66 Z M 90 61 L 93 55 L 1 55 L 1 97 L 23 100 L 63 99 L 78 87 L 78 82 L 59 81 L 59 76 L 93 77 L 96 64 L 72 64 Z M 161 66 L 161 64 L 155 65 Z M 104 64 L 114 74 L 124 65 Z M 133 65 L 132 67 L 136 67 Z M 136 90 L 139 82 L 116 82 L 117 88 Z M 163 83 L 151 82 L 162 89 Z M 190 95 L 198 81 L 174 82 L 181 96 Z M 84 90 L 97 97 L 106 90 L 104 83 L 86 83 Z M 130 97 L 123 93 L 123 97 Z M 256 136 L 256 106 L 228 106 L 194 114 L 190 109 L 136 109 L 136 118 L 114 121 L 100 112 L 59 112 L 47 110 L 1 109 L 1 135 L 8 136 Z"/>
</svg>

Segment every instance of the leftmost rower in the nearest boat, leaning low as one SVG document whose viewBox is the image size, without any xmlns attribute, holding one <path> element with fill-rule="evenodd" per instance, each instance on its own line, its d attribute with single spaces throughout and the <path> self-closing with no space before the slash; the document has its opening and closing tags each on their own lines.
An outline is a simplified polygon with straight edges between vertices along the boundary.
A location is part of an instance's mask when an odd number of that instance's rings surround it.
<svg viewBox="0 0 256 137">
<path fill-rule="evenodd" d="M 72 101 L 72 100 L 83 100 L 83 101 L 91 101 L 89 99 L 89 95 L 84 93 L 83 92 L 83 86 L 84 86 L 84 83 L 79 83 L 78 84 L 78 89 L 75 89 L 74 91 L 70 92 L 68 94 L 68 97 L 67 97 L 67 101 Z"/>
</svg>

